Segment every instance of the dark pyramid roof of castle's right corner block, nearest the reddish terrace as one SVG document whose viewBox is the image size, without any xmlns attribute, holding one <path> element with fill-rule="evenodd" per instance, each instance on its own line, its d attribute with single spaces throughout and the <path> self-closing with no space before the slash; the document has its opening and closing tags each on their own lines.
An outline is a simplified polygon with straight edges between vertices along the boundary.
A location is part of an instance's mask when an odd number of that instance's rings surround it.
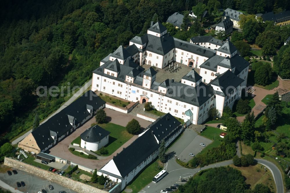
<svg viewBox="0 0 290 193">
<path fill-rule="evenodd" d="M 240 85 L 242 82 L 244 82 L 243 79 L 237 77 L 235 74 L 233 74 L 231 72 L 231 70 L 227 70 L 226 72 L 224 72 L 220 76 L 213 79 L 213 81 L 211 81 L 209 83 L 209 85 L 219 86 L 220 89 L 222 90 L 222 92 L 225 95 L 228 95 L 230 92 L 233 91 L 232 87 L 237 88 L 238 85 Z M 227 89 L 228 87 L 230 87 L 230 88 Z M 226 93 L 226 91 L 228 93 Z"/>
</svg>

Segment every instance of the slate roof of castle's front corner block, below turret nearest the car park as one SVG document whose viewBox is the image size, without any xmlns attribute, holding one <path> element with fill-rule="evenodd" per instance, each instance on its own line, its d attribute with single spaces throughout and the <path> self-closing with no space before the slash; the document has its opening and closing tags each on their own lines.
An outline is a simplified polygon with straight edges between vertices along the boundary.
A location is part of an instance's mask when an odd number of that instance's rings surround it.
<svg viewBox="0 0 290 193">
<path fill-rule="evenodd" d="M 166 96 L 178 101 L 200 106 L 213 96 L 211 86 L 200 83 L 196 87 L 183 84 L 181 82 L 168 81 Z"/>
</svg>

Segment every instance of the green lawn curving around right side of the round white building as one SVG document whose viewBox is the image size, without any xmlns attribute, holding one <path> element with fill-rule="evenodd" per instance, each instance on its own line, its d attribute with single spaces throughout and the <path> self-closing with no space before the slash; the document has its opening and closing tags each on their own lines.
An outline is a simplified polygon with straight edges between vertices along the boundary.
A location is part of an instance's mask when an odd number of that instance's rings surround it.
<svg viewBox="0 0 290 193">
<path fill-rule="evenodd" d="M 108 154 L 103 156 L 109 156 L 114 153 L 119 147 L 126 143 L 129 139 L 133 137 L 132 134 L 128 133 L 126 128 L 121 125 L 116 125 L 114 123 L 104 123 L 98 124 L 103 129 L 111 132 L 109 137 L 109 143 L 104 148 L 108 150 Z M 99 151 L 96 152 L 101 155 Z"/>
</svg>

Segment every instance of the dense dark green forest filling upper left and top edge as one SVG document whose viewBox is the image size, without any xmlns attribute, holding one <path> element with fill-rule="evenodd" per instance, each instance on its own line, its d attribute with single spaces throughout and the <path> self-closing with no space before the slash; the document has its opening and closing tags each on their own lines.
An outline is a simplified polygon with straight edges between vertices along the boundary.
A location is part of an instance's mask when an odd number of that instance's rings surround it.
<svg viewBox="0 0 290 193">
<path fill-rule="evenodd" d="M 38 86 L 81 86 L 99 61 L 150 22 L 189 11 L 199 0 L 4 0 L 0 5 L 0 145 L 44 119 L 65 101 L 37 97 Z M 289 1 L 204 0 L 209 10 L 248 13 L 289 9 Z M 213 6 L 215 5 L 215 6 Z M 253 6 L 254 5 L 254 6 Z M 190 35 L 201 32 L 199 23 Z M 177 34 L 180 39 L 182 34 Z"/>
</svg>

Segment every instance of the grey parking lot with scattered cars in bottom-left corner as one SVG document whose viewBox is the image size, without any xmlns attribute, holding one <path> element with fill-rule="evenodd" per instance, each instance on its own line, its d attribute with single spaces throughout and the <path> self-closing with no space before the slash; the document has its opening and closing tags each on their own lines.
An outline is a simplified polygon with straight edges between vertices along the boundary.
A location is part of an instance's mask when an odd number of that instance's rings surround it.
<svg viewBox="0 0 290 193">
<path fill-rule="evenodd" d="M 10 170 L 12 171 L 12 169 Z M 61 190 L 66 191 L 67 193 L 77 193 L 73 190 L 70 190 L 67 187 L 63 187 L 57 183 L 51 182 L 46 179 L 42 179 L 39 176 L 34 176 L 30 173 L 17 170 L 18 174 L 13 174 L 9 176 L 7 172 L 0 173 L 0 179 L 11 187 L 21 191 L 29 193 L 37 193 L 42 189 L 45 189 L 47 192 L 59 192 Z M 16 182 L 23 181 L 25 186 L 17 187 Z M 48 185 L 52 185 L 54 190 L 49 190 Z"/>
</svg>

